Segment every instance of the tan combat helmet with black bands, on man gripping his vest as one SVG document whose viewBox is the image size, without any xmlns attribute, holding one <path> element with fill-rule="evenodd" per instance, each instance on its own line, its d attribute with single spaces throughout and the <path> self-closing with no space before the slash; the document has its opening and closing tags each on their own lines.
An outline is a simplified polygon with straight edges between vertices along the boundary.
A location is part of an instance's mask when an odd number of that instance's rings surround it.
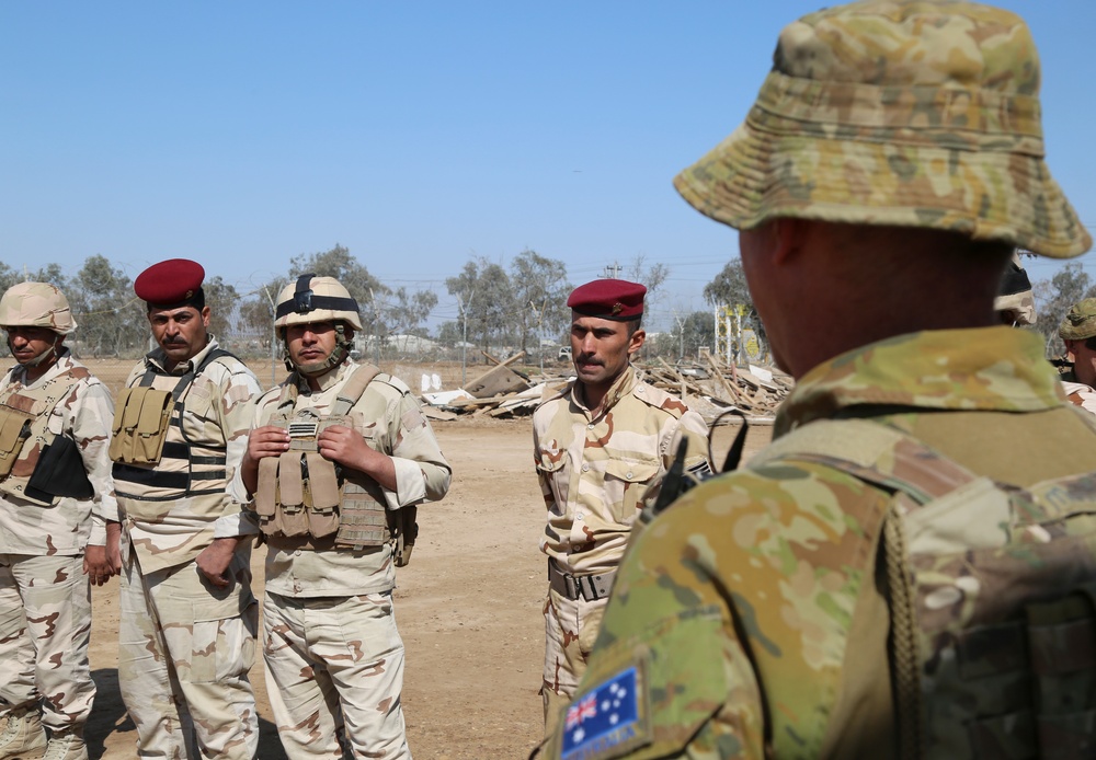
<svg viewBox="0 0 1096 760">
<path fill-rule="evenodd" d="M 285 366 L 289 371 L 297 370 L 301 375 L 322 375 L 341 365 L 353 348 L 353 343 L 346 335 L 346 325 L 362 330 L 362 318 L 358 315 L 357 301 L 334 277 L 317 277 L 313 274 L 301 275 L 295 284 L 282 288 L 274 310 L 274 332 L 285 341 L 285 329 L 294 324 L 315 324 L 317 322 L 333 322 L 339 334 L 335 349 L 323 361 L 300 367 L 289 361 L 286 346 Z"/>
</svg>

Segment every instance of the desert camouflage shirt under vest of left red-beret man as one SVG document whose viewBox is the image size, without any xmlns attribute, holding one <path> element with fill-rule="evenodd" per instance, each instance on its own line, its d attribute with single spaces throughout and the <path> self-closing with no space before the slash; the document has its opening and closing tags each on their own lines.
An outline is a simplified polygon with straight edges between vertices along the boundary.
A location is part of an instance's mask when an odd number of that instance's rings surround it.
<svg viewBox="0 0 1096 760">
<path fill-rule="evenodd" d="M 212 337 L 209 344 L 190 361 L 182 361 L 171 372 L 164 368 L 161 349 L 149 353 L 134 367 L 126 380 L 132 388 L 140 382 L 145 371 L 156 372 L 152 388 L 174 390 L 179 379 L 192 367 L 202 364 L 205 356 L 217 348 Z M 142 502 L 126 494 L 155 495 L 156 490 L 140 484 L 117 482 L 118 505 L 123 515 L 124 551 L 137 552 L 141 571 L 152 573 L 175 567 L 197 557 L 214 539 L 249 536 L 258 527 L 242 514 L 240 504 L 228 493 L 228 484 L 243 459 L 248 446 L 248 430 L 254 414 L 254 401 L 262 393 L 254 373 L 239 359 L 225 356 L 207 364 L 189 387 L 180 401 L 183 404 L 182 425 L 187 439 L 195 445 L 208 445 L 225 450 L 225 477 L 202 482 L 204 490 L 215 493 L 189 496 L 165 502 Z M 167 441 L 184 444 L 174 425 L 168 429 Z M 169 467 L 164 462 L 161 469 Z M 184 460 L 171 460 L 170 467 L 183 472 Z"/>
</svg>

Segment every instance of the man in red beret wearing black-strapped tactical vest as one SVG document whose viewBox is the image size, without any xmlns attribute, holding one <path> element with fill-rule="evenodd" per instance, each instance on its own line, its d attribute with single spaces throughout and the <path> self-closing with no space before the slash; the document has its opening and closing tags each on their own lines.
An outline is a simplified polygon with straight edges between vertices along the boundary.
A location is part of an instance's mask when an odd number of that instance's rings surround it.
<svg viewBox="0 0 1096 760">
<path fill-rule="evenodd" d="M 172 258 L 134 281 L 157 348 L 118 398 L 111 459 L 123 519 L 122 696 L 141 757 L 251 760 L 248 681 L 258 604 L 251 536 L 228 492 L 259 381 L 209 334 L 197 262 Z"/>
</svg>

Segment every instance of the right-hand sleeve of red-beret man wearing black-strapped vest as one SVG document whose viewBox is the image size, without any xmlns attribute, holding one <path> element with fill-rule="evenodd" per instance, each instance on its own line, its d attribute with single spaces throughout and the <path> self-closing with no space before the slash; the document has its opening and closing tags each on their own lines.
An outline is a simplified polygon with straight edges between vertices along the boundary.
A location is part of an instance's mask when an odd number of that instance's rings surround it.
<svg viewBox="0 0 1096 760">
<path fill-rule="evenodd" d="M 214 525 L 214 538 L 250 536 L 259 532 L 258 526 L 243 511 L 243 505 L 235 496 L 232 483 L 240 469 L 240 462 L 248 450 L 248 433 L 255 415 L 255 402 L 262 389 L 254 373 L 241 364 L 233 362 L 231 373 L 221 383 L 221 403 L 218 405 L 220 427 L 225 434 L 225 471 L 228 484 L 225 488 L 225 509 Z"/>
</svg>

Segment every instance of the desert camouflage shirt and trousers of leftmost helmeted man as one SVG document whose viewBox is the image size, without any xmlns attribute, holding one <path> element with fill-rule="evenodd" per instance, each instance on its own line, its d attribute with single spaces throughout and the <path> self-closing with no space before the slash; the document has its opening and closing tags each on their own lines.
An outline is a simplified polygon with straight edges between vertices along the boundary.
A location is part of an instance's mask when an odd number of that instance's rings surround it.
<svg viewBox="0 0 1096 760">
<path fill-rule="evenodd" d="M 58 497 L 44 507 L 0 493 L 0 699 L 3 712 L 36 706 L 54 735 L 82 730 L 95 684 L 88 666 L 91 588 L 83 573 L 88 544 L 106 543 L 106 520 L 118 519 L 106 456 L 114 405 L 110 391 L 68 348 L 30 385 L 78 378 L 47 423 L 50 433 L 76 441 L 95 491 L 91 499 Z M 25 388 L 16 366 L 0 379 L 0 403 Z M 30 442 L 27 444 L 30 445 Z"/>
</svg>

